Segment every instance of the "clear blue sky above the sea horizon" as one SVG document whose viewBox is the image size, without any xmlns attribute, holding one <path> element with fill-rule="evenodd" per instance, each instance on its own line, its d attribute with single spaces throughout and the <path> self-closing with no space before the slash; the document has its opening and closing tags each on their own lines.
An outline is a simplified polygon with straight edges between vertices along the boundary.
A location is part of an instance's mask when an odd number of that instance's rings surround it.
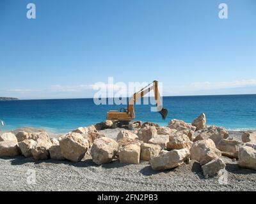
<svg viewBox="0 0 256 204">
<path fill-rule="evenodd" d="M 0 76 L 0 96 L 20 99 L 90 98 L 108 77 L 156 79 L 165 96 L 256 94 L 256 1 L 1 0 Z"/>
</svg>

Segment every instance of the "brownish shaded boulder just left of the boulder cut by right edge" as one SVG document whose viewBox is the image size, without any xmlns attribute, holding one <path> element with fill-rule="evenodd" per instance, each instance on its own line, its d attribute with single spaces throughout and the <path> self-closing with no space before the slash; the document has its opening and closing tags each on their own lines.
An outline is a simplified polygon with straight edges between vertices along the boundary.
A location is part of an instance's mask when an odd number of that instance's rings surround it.
<svg viewBox="0 0 256 204">
<path fill-rule="evenodd" d="M 243 143 L 239 142 L 238 140 L 222 139 L 216 148 L 221 150 L 221 154 L 223 156 L 238 159 L 238 149 L 241 145 L 243 145 Z"/>
</svg>

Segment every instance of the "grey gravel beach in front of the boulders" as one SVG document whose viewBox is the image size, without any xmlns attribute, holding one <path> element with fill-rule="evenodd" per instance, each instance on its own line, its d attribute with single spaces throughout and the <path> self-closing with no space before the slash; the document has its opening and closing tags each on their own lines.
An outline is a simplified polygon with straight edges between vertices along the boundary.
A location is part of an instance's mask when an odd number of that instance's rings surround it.
<svg viewBox="0 0 256 204">
<path fill-rule="evenodd" d="M 118 131 L 107 129 L 102 133 L 115 138 Z M 227 184 L 220 184 L 219 177 L 204 179 L 196 161 L 173 170 L 154 171 L 147 162 L 136 165 L 113 161 L 98 166 L 91 160 L 70 163 L 1 157 L 0 191 L 256 191 L 256 171 L 223 159 L 227 163 Z M 28 182 L 31 170 L 35 172 L 33 184 Z"/>
</svg>

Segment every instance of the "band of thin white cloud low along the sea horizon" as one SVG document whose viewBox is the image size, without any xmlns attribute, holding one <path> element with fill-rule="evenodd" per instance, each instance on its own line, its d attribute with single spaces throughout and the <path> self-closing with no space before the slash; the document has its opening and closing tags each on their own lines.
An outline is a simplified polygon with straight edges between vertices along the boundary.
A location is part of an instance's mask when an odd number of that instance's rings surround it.
<svg viewBox="0 0 256 204">
<path fill-rule="evenodd" d="M 126 87 L 127 85 L 127 87 Z M 141 85 L 136 87 L 140 90 Z M 1 96 L 26 98 L 92 98 L 99 90 L 114 91 L 122 96 L 131 96 L 128 84 L 80 84 L 80 85 L 51 85 L 45 89 L 9 89 L 0 91 Z M 163 84 L 163 96 L 186 96 L 208 94 L 256 94 L 256 80 L 236 80 L 232 82 L 193 82 L 184 85 Z M 116 95 L 115 95 L 116 96 Z"/>
</svg>

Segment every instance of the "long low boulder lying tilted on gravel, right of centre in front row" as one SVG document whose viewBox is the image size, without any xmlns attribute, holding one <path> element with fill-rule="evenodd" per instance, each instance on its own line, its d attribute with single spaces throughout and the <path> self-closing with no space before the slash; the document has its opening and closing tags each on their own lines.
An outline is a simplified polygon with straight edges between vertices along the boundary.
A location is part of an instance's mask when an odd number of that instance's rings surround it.
<svg viewBox="0 0 256 204">
<path fill-rule="evenodd" d="M 152 157 L 150 164 L 153 170 L 168 170 L 182 165 L 187 159 L 189 159 L 188 149 L 164 151 L 159 156 Z"/>
</svg>

